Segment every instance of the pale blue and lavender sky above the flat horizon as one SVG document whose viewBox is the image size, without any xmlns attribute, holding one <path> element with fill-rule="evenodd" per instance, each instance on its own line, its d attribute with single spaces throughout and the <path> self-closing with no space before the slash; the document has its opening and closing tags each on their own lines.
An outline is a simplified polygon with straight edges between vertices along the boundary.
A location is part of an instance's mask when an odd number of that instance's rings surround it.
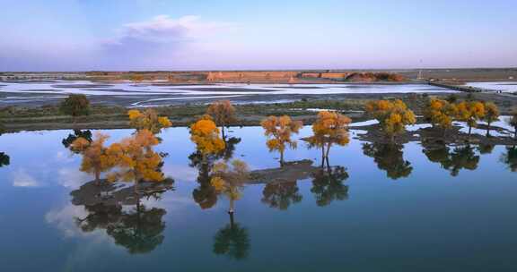
<svg viewBox="0 0 517 272">
<path fill-rule="evenodd" d="M 0 71 L 517 66 L 515 0 L 0 0 Z"/>
</svg>

